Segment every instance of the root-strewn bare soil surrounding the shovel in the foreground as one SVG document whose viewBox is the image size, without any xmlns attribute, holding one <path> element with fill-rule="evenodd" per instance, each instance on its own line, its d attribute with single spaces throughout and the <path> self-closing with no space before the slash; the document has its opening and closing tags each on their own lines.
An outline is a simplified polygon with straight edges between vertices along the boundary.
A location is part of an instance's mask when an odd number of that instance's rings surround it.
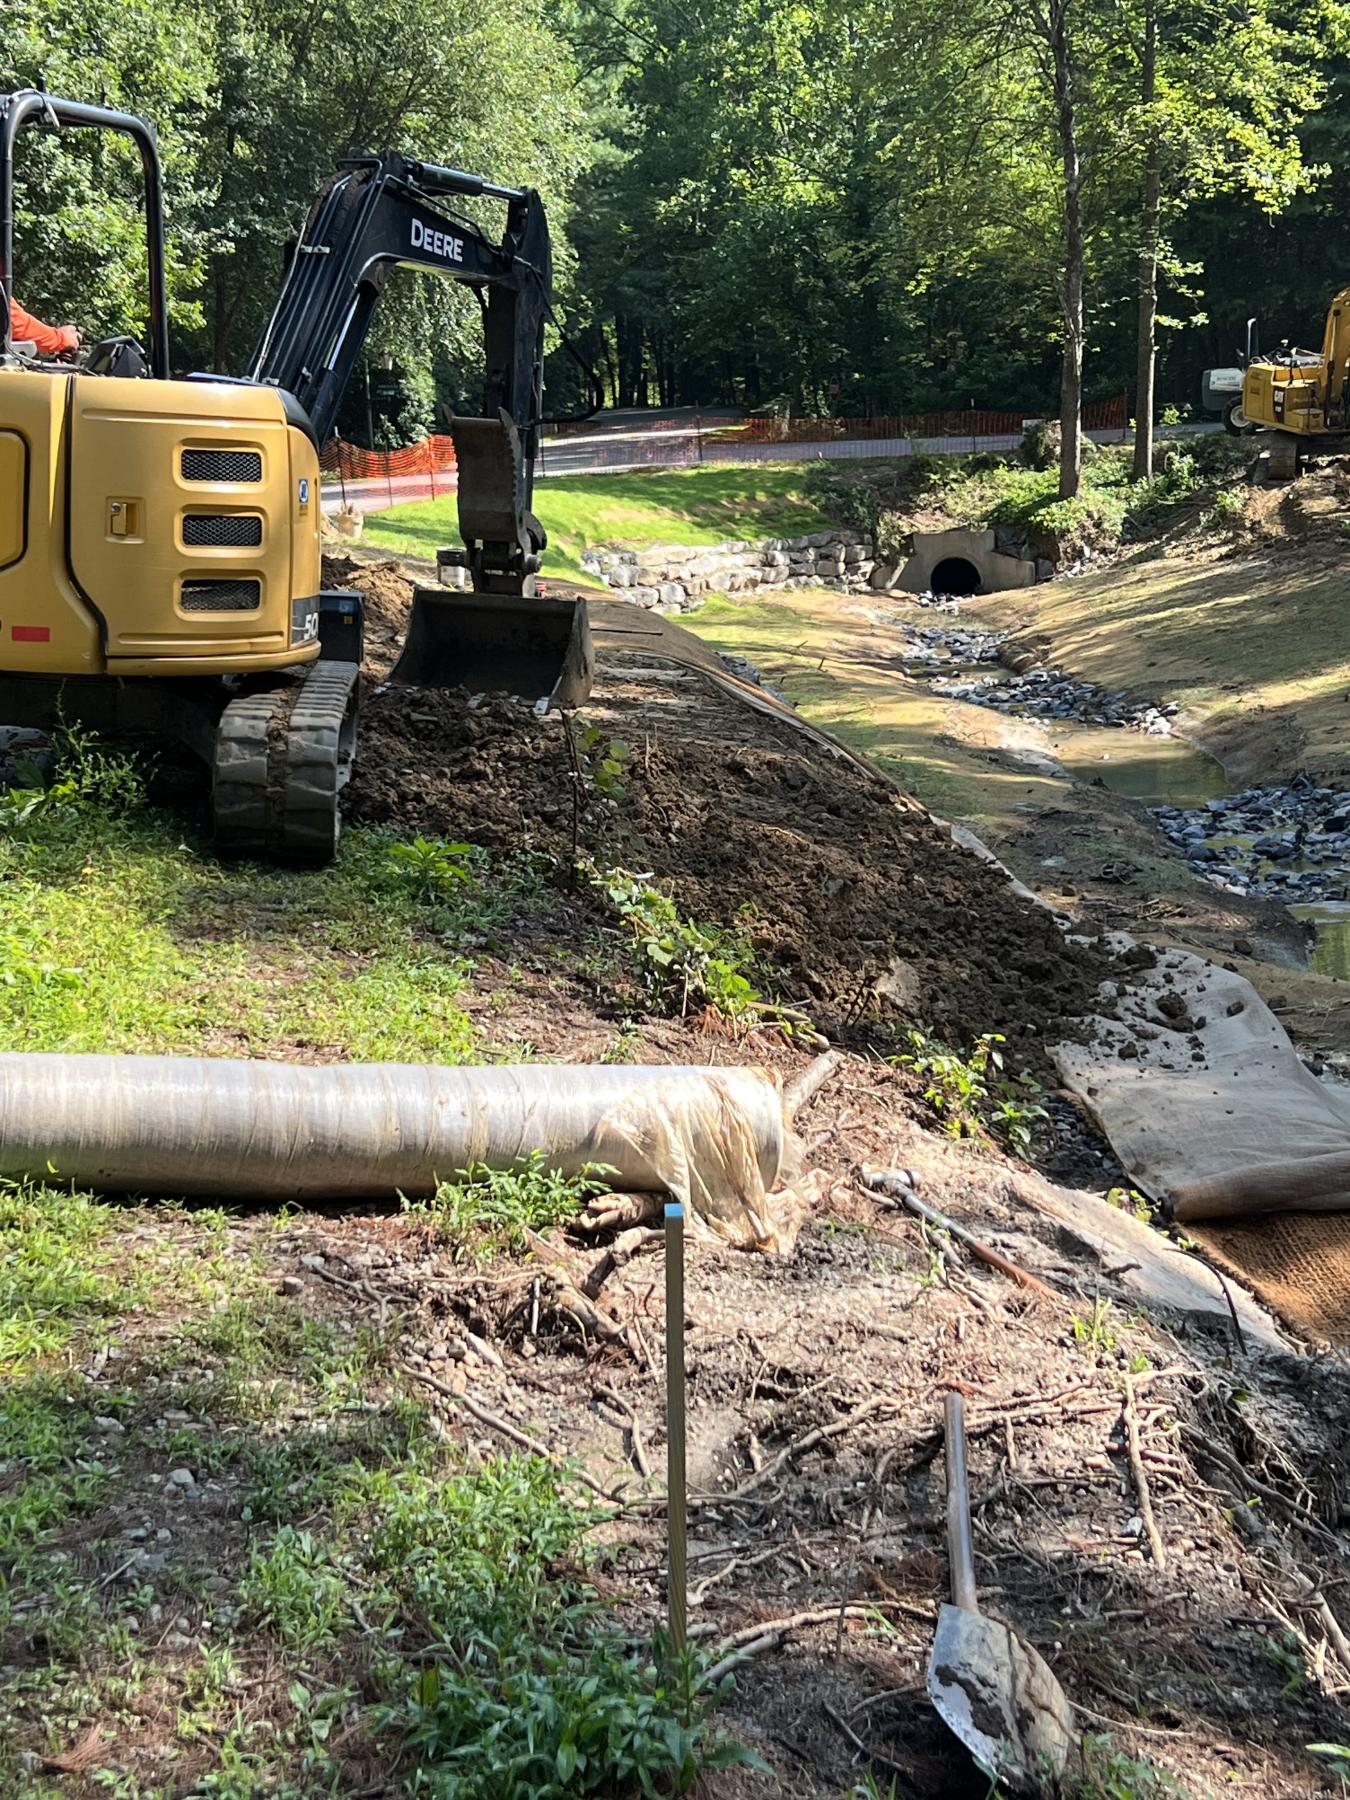
<svg viewBox="0 0 1350 1800">
<path fill-rule="evenodd" d="M 868 1769 L 882 1791 L 896 1777 L 898 1795 L 988 1793 L 923 1692 L 947 1597 L 947 1388 L 967 1397 L 983 1604 L 1049 1658 L 1080 1723 L 1174 1771 L 1184 1795 L 1330 1793 L 1303 1746 L 1341 1717 L 1345 1676 L 1312 1669 L 1318 1584 L 1334 1591 L 1345 1570 L 1345 1370 L 1253 1348 L 1235 1368 L 1222 1328 L 1138 1318 L 1098 1258 L 1039 1215 L 1031 1177 L 916 1125 L 905 1084 L 875 1064 L 850 1060 L 805 1125 L 826 1186 L 794 1258 L 688 1251 L 691 1622 L 722 1654 L 761 1640 L 727 1715 L 772 1769 L 716 1777 L 706 1800 L 842 1796 Z M 916 1170 L 934 1204 L 1055 1294 L 887 1213 L 857 1186 L 859 1161 Z M 554 1238 L 544 1265 L 580 1282 L 601 1246 Z M 405 1220 L 301 1219 L 279 1251 L 308 1307 L 401 1319 L 403 1361 L 430 1377 L 452 1431 L 497 1445 L 468 1399 L 601 1485 L 625 1469 L 632 1510 L 601 1591 L 641 1620 L 664 1591 L 664 1519 L 643 1503 L 664 1454 L 661 1235 L 635 1228 L 616 1247 L 628 1260 L 599 1307 L 637 1321 L 626 1348 L 551 1310 L 547 1280 L 531 1327 L 538 1260 L 464 1271 Z M 500 1364 L 464 1350 L 466 1328 Z M 1130 1368 L 1163 1566 L 1127 1458 Z M 1283 1499 L 1249 1507 L 1244 1471 Z M 783 1618 L 797 1624 L 763 1636 Z"/>
</svg>

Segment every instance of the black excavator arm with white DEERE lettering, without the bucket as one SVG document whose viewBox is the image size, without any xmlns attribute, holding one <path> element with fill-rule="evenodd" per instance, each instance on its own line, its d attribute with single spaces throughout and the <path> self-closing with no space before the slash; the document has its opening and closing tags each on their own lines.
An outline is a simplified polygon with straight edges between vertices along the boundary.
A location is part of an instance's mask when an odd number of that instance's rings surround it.
<svg viewBox="0 0 1350 1800">
<path fill-rule="evenodd" d="M 459 194 L 506 202 L 499 243 L 430 203 Z M 310 209 L 248 374 L 293 394 L 322 445 L 396 268 L 448 275 L 482 301 L 482 416 L 452 421 L 459 531 L 477 592 L 533 594 L 545 547 L 531 499 L 551 281 L 533 189 L 396 151 L 344 160 Z"/>
</svg>

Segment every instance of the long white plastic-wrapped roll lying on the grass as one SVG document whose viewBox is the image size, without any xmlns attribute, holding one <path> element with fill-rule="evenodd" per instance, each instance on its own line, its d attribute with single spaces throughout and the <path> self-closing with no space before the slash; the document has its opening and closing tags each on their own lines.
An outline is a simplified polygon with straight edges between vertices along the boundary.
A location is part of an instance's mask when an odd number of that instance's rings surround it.
<svg viewBox="0 0 1350 1800">
<path fill-rule="evenodd" d="M 0 1177 L 115 1192 L 418 1195 L 470 1163 L 511 1168 L 542 1150 L 772 1249 L 785 1141 L 763 1069 L 0 1055 Z"/>
</svg>

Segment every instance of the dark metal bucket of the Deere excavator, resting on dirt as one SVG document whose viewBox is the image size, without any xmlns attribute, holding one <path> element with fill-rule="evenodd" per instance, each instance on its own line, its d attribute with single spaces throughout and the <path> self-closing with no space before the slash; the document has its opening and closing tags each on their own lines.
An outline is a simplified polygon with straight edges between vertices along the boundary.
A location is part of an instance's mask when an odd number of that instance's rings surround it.
<svg viewBox="0 0 1350 1800">
<path fill-rule="evenodd" d="M 418 587 L 407 643 L 389 679 L 405 688 L 468 688 L 581 706 L 596 679 L 587 603 Z"/>
</svg>

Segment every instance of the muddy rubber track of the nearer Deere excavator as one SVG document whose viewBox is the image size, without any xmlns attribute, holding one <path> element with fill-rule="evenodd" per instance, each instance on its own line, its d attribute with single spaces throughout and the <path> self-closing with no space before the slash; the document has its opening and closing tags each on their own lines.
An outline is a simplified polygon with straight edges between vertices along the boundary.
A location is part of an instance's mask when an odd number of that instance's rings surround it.
<svg viewBox="0 0 1350 1800">
<path fill-rule="evenodd" d="M 355 662 L 311 662 L 301 680 L 230 700 L 216 731 L 216 848 L 266 862 L 331 862 L 355 731 Z"/>
</svg>

